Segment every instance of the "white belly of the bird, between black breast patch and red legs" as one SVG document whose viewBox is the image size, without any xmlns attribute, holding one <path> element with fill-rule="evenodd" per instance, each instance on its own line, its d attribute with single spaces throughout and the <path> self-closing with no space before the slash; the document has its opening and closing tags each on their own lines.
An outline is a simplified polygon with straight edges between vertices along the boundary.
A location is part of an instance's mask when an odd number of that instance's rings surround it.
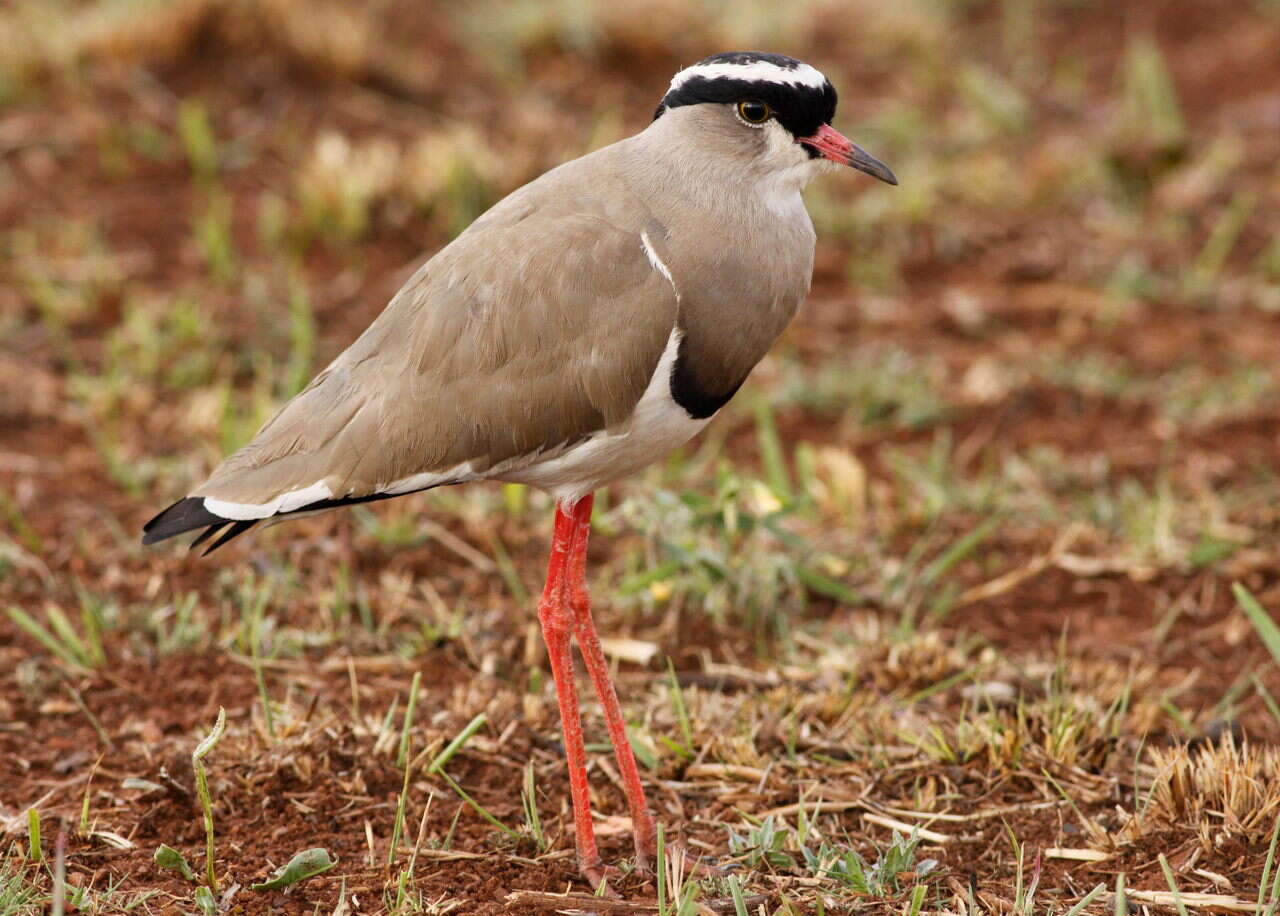
<svg viewBox="0 0 1280 916">
<path fill-rule="evenodd" d="M 678 351 L 680 331 L 673 330 L 625 427 L 596 432 L 554 458 L 495 475 L 497 478 L 536 486 L 558 500 L 572 503 L 684 445 L 710 418 L 694 420 L 671 397 L 671 371 Z"/>
</svg>

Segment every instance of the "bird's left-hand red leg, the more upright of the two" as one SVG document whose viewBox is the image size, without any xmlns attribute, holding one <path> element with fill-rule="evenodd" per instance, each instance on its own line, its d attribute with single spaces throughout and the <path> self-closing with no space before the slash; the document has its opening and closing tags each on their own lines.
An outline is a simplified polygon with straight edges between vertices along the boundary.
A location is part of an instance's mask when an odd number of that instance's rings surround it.
<svg viewBox="0 0 1280 916">
<path fill-rule="evenodd" d="M 577 862 L 582 875 L 593 888 L 604 878 L 600 852 L 595 846 L 591 825 L 591 798 L 586 782 L 586 748 L 582 745 L 582 722 L 577 707 L 577 687 L 573 683 L 573 658 L 570 640 L 573 635 L 573 610 L 568 601 L 566 563 L 573 548 L 575 525 L 571 514 L 556 507 L 556 532 L 552 536 L 552 555 L 547 564 L 547 586 L 538 603 L 538 619 L 543 624 L 547 655 L 556 679 L 556 697 L 559 700 L 561 725 L 564 730 L 564 757 L 568 761 L 568 787 L 573 798 L 573 834 Z"/>
</svg>

